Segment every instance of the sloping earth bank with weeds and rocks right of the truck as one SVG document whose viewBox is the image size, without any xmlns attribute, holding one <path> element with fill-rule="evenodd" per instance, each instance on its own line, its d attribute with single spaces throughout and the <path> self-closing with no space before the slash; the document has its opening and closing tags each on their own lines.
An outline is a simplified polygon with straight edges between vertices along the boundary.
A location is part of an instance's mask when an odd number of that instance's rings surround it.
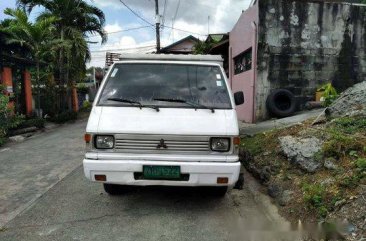
<svg viewBox="0 0 366 241">
<path fill-rule="evenodd" d="M 365 115 L 346 114 L 317 124 L 313 121 L 243 137 L 241 160 L 293 222 L 347 220 L 365 235 Z M 289 157 L 281 142 L 284 137 L 299 141 L 300 159 Z M 310 153 L 304 140 L 314 138 L 321 144 Z M 290 146 L 293 152 L 295 144 Z M 315 163 L 315 170 L 303 168 L 307 162 Z"/>
</svg>

